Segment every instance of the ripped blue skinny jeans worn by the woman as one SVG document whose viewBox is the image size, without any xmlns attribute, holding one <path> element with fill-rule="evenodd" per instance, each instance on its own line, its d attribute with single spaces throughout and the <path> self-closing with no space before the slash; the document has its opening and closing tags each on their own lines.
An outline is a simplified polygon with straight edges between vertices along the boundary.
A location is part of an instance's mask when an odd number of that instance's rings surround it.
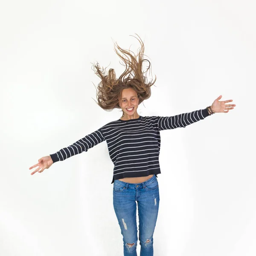
<svg viewBox="0 0 256 256">
<path fill-rule="evenodd" d="M 159 188 L 154 175 L 142 183 L 113 183 L 113 206 L 123 236 L 124 256 L 137 256 L 136 210 L 139 213 L 140 256 L 152 256 L 153 233 L 159 208 Z"/>
</svg>

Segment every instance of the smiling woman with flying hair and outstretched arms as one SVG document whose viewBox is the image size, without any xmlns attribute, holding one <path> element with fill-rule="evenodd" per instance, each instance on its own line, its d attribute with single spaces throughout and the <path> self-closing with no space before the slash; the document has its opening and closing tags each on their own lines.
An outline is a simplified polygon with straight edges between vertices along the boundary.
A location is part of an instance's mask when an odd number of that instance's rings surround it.
<svg viewBox="0 0 256 256">
<path fill-rule="evenodd" d="M 150 87 L 156 81 L 155 79 L 153 83 L 147 82 L 144 76 L 142 71 L 144 44 L 142 41 L 140 44 L 141 50 L 137 56 L 132 55 L 130 50 L 126 51 L 117 45 L 120 52 L 124 54 L 122 56 L 115 48 L 115 52 L 126 66 L 125 72 L 119 79 L 116 79 L 113 69 L 110 69 L 105 76 L 105 71 L 100 70 L 98 63 L 93 65 L 96 68 L 96 75 L 101 79 L 96 88 L 98 100 L 96 103 L 105 110 L 121 108 L 122 117 L 103 125 L 67 148 L 40 158 L 37 164 L 29 168 L 38 167 L 31 175 L 35 172 L 41 173 L 53 163 L 86 152 L 89 148 L 106 140 L 109 156 L 114 164 L 113 207 L 121 228 L 124 256 L 137 256 L 137 205 L 140 256 L 153 255 L 153 233 L 160 201 L 157 181 L 157 174 L 161 173 L 160 131 L 185 128 L 213 113 L 227 113 L 236 106 L 225 105 L 233 100 L 219 101 L 221 99 L 219 96 L 211 106 L 190 113 L 166 117 L 140 116 L 137 108 L 151 96 Z"/>
</svg>

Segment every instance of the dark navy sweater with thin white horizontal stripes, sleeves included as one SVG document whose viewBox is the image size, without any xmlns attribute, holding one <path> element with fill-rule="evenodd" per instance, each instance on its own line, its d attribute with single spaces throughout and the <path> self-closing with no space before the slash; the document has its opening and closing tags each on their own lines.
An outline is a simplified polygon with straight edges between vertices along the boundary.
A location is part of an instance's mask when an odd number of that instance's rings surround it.
<svg viewBox="0 0 256 256">
<path fill-rule="evenodd" d="M 86 152 L 106 140 L 114 164 L 113 179 L 160 174 L 160 131 L 185 128 L 209 116 L 207 109 L 175 116 L 140 116 L 137 119 L 112 121 L 86 135 L 67 148 L 50 154 L 53 163 Z"/>
</svg>

